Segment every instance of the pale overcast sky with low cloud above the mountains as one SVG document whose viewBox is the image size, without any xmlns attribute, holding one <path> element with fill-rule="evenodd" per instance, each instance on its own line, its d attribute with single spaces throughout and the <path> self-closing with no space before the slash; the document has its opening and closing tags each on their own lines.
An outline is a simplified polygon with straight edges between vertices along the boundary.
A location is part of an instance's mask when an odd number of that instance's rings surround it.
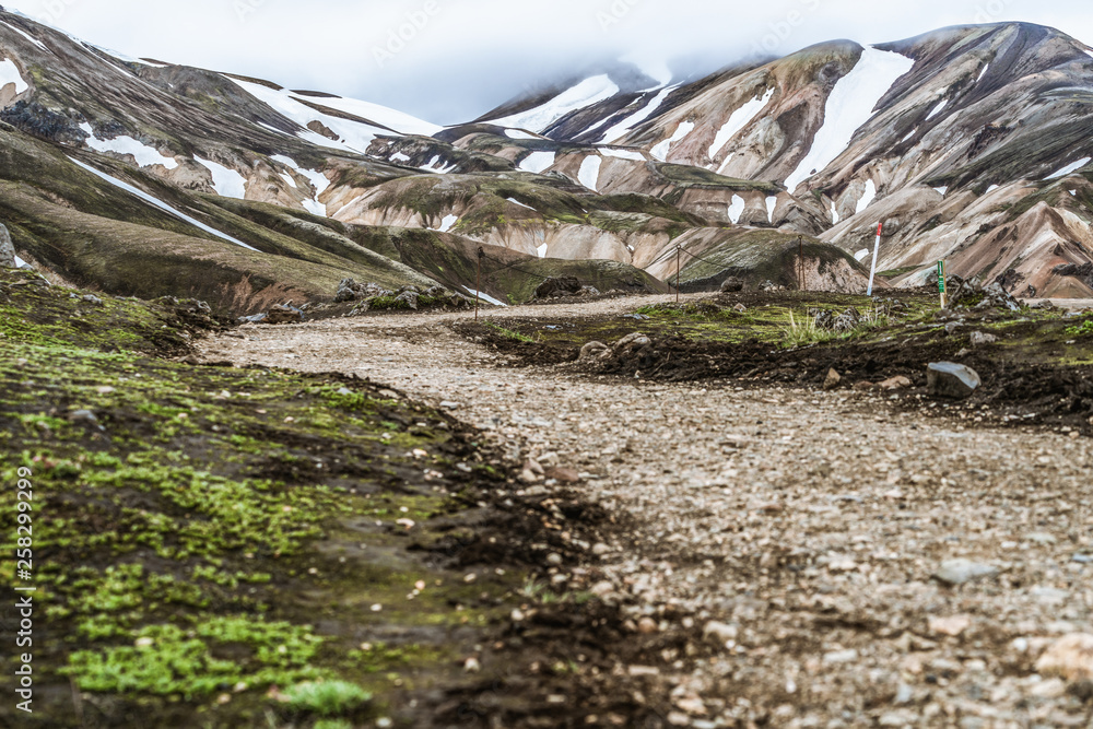
<svg viewBox="0 0 1093 729">
<path fill-rule="evenodd" d="M 604 58 L 708 71 L 834 38 L 1029 21 L 1093 43 L 1089 0 L 0 0 L 99 46 L 356 96 L 438 124 Z M 680 61 L 679 59 L 685 59 Z"/>
</svg>

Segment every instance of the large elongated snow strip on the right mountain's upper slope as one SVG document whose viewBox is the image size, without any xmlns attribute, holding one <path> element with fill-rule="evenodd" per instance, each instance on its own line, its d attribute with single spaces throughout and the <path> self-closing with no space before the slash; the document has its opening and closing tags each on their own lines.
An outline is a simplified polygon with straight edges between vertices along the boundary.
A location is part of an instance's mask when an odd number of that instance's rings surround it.
<svg viewBox="0 0 1093 729">
<path fill-rule="evenodd" d="M 873 116 L 881 97 L 905 73 L 914 68 L 914 59 L 896 52 L 866 48 L 854 70 L 838 80 L 824 107 L 824 125 L 816 132 L 812 149 L 797 169 L 786 178 L 790 191 L 812 177 L 812 171 L 823 172 L 846 148 L 854 133 Z"/>
</svg>

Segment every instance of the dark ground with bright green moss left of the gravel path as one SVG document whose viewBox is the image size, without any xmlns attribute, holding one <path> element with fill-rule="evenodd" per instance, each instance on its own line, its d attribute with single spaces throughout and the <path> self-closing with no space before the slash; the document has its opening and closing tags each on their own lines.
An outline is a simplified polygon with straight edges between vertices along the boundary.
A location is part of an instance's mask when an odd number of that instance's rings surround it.
<svg viewBox="0 0 1093 729">
<path fill-rule="evenodd" d="M 457 568 L 468 507 L 503 483 L 473 435 L 363 380 L 166 360 L 200 334 L 190 303 L 82 296 L 0 272 L 9 557 L 21 469 L 33 484 L 30 579 L 0 563 L 36 588 L 28 726 L 361 726 L 459 684 L 527 602 L 516 569 Z"/>
</svg>

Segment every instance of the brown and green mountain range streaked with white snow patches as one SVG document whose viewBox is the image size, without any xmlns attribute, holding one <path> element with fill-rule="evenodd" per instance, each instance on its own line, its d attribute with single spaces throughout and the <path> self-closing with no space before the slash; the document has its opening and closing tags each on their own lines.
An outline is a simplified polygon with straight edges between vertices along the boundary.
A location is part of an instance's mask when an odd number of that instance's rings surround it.
<svg viewBox="0 0 1093 729">
<path fill-rule="evenodd" d="M 343 278 L 467 292 L 479 246 L 506 261 L 482 284 L 501 301 L 567 271 L 796 285 L 802 242 L 810 287 L 856 291 L 883 223 L 894 285 L 945 258 L 1018 294 L 1093 295 L 1093 51 L 1042 26 L 700 79 L 604 63 L 448 128 L 14 13 L 0 56 L 0 221 L 22 259 L 107 293 L 250 313 Z"/>
</svg>

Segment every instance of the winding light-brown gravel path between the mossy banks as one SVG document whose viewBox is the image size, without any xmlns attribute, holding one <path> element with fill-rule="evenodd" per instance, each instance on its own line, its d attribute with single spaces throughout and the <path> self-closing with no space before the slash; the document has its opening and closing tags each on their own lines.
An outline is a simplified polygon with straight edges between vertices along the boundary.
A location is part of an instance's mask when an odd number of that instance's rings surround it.
<svg viewBox="0 0 1093 729">
<path fill-rule="evenodd" d="M 580 472 L 637 525 L 589 549 L 592 591 L 630 612 L 635 640 L 682 636 L 657 666 L 618 667 L 643 701 L 669 697 L 671 724 L 1093 726 L 1093 684 L 1035 670 L 1062 635 L 1093 633 L 1088 438 L 965 428 L 870 395 L 506 368 L 456 318 L 245 327 L 203 356 L 355 373 Z M 943 572 L 966 584 L 933 578 L 955 560 Z"/>
</svg>

